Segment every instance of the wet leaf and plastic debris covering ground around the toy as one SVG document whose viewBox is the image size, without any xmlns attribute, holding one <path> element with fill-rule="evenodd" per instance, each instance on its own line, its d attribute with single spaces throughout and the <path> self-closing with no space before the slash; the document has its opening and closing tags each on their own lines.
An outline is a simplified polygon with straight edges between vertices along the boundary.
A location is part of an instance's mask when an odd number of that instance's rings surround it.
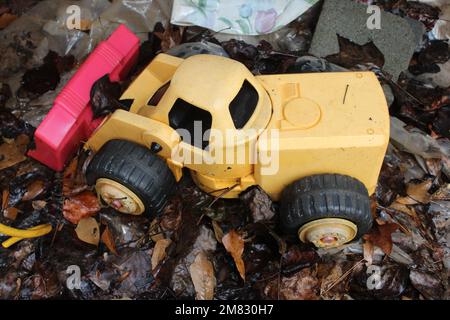
<svg viewBox="0 0 450 320">
<path fill-rule="evenodd" d="M 81 1 L 89 23 L 70 32 L 60 25 L 64 4 L 36 2 L 0 6 L 0 223 L 17 228 L 48 223 L 53 231 L 0 249 L 0 298 L 450 297 L 445 1 L 320 1 L 256 44 L 171 25 L 159 1 L 136 10 L 125 8 L 126 1 Z M 381 9 L 381 30 L 348 24 L 361 20 L 365 25 L 368 2 Z M 36 19 L 43 8 L 52 13 Z M 161 12 L 167 19 L 157 23 Z M 108 17 L 141 32 L 134 75 L 159 52 L 185 56 L 191 50 L 186 43 L 192 42 L 201 43 L 200 51 L 244 63 L 254 74 L 374 71 L 390 105 L 391 144 L 371 199 L 375 223 L 370 233 L 336 249 L 317 250 L 283 236 L 278 204 L 260 188 L 236 200 L 215 199 L 188 175 L 154 221 L 126 216 L 104 207 L 86 185 L 83 153 L 63 173 L 26 157 L 34 128 L 56 94 L 117 25 Z M 57 45 L 61 37 L 68 40 Z M 93 92 L 99 116 L 124 108 L 117 92 L 126 83 L 111 87 L 104 80 Z M 74 267 L 81 278 L 71 286 Z"/>
</svg>

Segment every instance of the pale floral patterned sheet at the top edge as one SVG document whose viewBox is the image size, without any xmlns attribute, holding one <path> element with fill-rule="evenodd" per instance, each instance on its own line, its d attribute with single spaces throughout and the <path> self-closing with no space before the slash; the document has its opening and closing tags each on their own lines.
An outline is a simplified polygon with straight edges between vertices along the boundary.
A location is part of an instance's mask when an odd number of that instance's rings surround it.
<svg viewBox="0 0 450 320">
<path fill-rule="evenodd" d="M 281 29 L 318 1 L 174 0 L 172 23 L 231 34 L 267 34 Z"/>
</svg>

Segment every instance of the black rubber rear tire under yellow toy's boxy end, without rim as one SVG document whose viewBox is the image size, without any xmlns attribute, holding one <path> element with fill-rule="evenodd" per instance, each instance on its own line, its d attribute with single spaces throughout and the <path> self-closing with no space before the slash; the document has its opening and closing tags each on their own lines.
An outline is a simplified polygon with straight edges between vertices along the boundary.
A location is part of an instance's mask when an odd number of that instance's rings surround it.
<svg viewBox="0 0 450 320">
<path fill-rule="evenodd" d="M 370 199 L 362 182 L 339 174 L 306 177 L 287 186 L 281 196 L 281 227 L 288 234 L 321 218 L 342 218 L 356 224 L 356 238 L 372 227 Z"/>
</svg>

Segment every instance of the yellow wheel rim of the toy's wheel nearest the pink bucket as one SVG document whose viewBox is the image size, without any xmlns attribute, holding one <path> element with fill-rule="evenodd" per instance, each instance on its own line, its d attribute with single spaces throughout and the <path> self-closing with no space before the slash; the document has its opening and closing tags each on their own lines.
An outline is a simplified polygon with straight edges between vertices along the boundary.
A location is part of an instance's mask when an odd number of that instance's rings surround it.
<svg viewBox="0 0 450 320">
<path fill-rule="evenodd" d="M 121 213 L 140 215 L 145 211 L 141 199 L 133 191 L 114 180 L 98 179 L 95 189 L 108 206 Z"/>
</svg>

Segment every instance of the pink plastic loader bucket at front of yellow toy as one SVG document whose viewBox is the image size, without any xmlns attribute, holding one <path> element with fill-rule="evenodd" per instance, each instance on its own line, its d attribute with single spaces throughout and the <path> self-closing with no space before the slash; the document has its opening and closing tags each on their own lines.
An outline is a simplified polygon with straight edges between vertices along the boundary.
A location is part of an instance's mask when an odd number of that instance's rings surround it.
<svg viewBox="0 0 450 320">
<path fill-rule="evenodd" d="M 93 120 L 90 92 L 94 83 L 109 74 L 111 81 L 123 80 L 136 64 L 139 38 L 120 25 L 108 40 L 100 43 L 67 83 L 50 112 L 36 129 L 35 149 L 28 155 L 56 171 L 80 144 L 86 141 L 102 119 Z"/>
</svg>

